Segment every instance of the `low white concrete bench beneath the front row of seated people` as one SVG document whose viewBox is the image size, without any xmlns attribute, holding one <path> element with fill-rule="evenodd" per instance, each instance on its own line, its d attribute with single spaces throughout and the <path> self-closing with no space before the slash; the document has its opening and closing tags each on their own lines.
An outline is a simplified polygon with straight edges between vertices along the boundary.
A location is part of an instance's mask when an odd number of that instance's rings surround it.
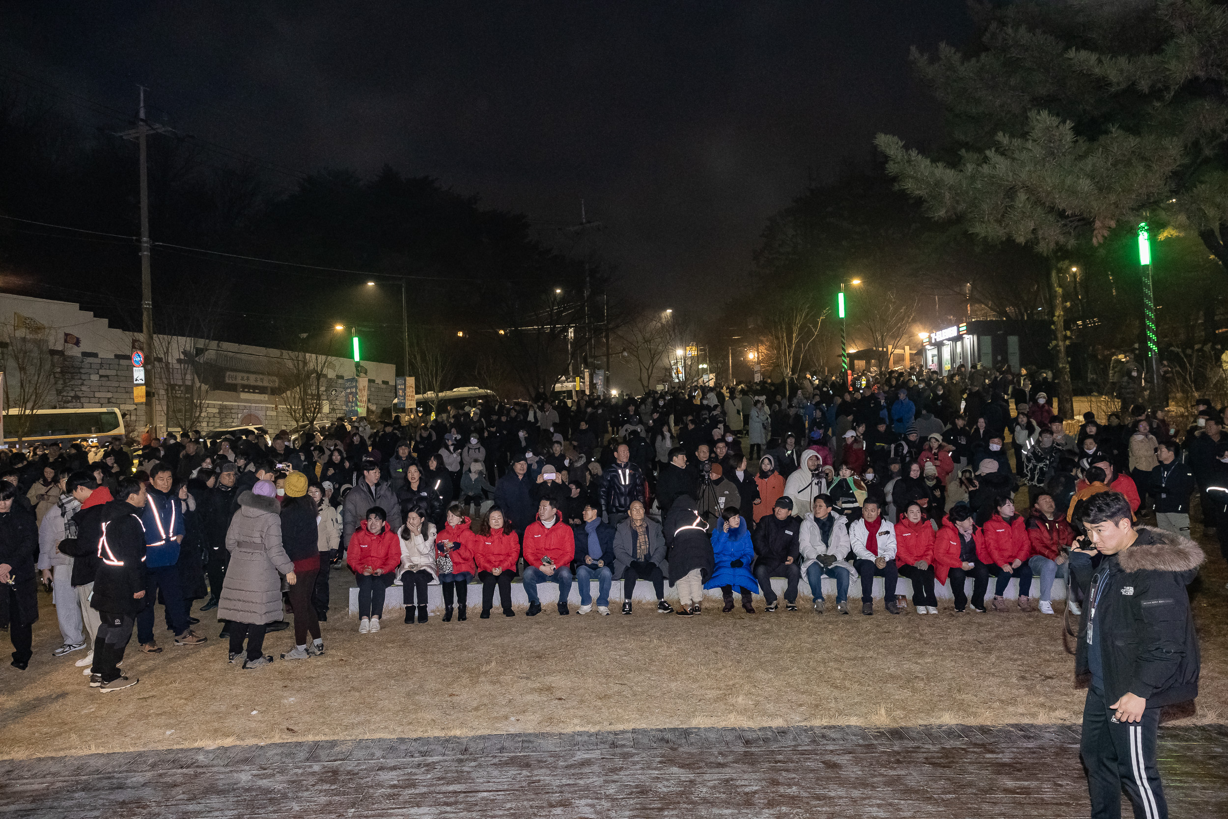
<svg viewBox="0 0 1228 819">
<path fill-rule="evenodd" d="M 991 577 L 990 578 L 990 588 L 989 588 L 989 592 L 986 593 L 986 597 L 992 597 L 992 594 L 993 594 L 993 582 L 995 582 L 995 580 Z M 598 589 L 597 581 L 591 581 L 591 586 L 592 586 L 592 591 L 593 591 L 593 600 L 596 602 L 596 599 L 597 599 L 597 589 Z M 772 589 L 775 589 L 776 594 L 783 594 L 785 593 L 785 586 L 786 586 L 786 582 L 785 582 L 785 578 L 782 578 L 782 577 L 774 577 L 772 581 L 771 581 L 771 587 L 772 587 Z M 971 581 L 971 578 L 969 578 L 969 580 L 965 581 L 965 587 L 966 587 L 966 592 L 968 592 L 969 597 L 971 597 L 971 593 L 973 593 L 973 581 Z M 392 586 L 392 587 L 388 588 L 388 591 L 384 593 L 384 611 L 395 610 L 395 609 L 403 609 L 404 608 L 404 605 L 405 605 L 404 599 L 405 598 L 402 596 L 402 589 L 404 587 L 402 587 L 402 586 Z M 734 591 L 737 591 L 737 589 L 734 589 Z M 937 583 L 935 583 L 935 589 L 933 591 L 935 591 L 935 597 L 938 597 L 938 598 L 944 599 L 944 600 L 952 599 L 950 582 L 949 581 L 946 582 L 946 583 L 943 583 L 942 586 L 938 586 Z M 1040 592 L 1040 581 L 1034 577 L 1032 580 L 1032 594 L 1033 594 L 1033 597 L 1035 597 L 1039 592 Z M 895 593 L 896 594 L 903 594 L 903 596 L 907 597 L 911 600 L 912 599 L 912 582 L 909 581 L 907 578 L 901 577 L 899 580 L 899 582 L 895 584 Z M 882 599 L 882 597 L 883 597 L 883 578 L 882 577 L 876 577 L 874 578 L 873 596 L 877 599 Z M 804 597 L 807 600 L 810 599 L 810 586 L 809 586 L 809 583 L 806 582 L 804 578 L 802 580 L 801 583 L 798 583 L 798 597 L 799 598 Z M 829 599 L 829 600 L 831 600 L 833 603 L 835 603 L 835 599 L 836 599 L 836 581 L 835 581 L 834 577 L 824 577 L 823 578 L 823 597 L 826 598 L 826 599 Z M 1016 599 L 1016 598 L 1018 598 L 1019 597 L 1019 582 L 1014 581 L 1014 580 L 1011 581 L 1011 584 L 1007 587 L 1006 593 L 1003 594 L 1003 597 L 1006 597 L 1008 599 Z M 1066 583 L 1065 583 L 1065 581 L 1062 581 L 1062 580 L 1055 580 L 1054 581 L 1052 597 L 1054 597 L 1055 600 L 1065 600 L 1066 599 Z M 559 602 L 559 584 L 558 583 L 538 583 L 538 598 L 542 600 L 542 605 L 549 605 L 549 604 L 558 603 Z M 710 589 L 705 591 L 704 598 L 705 599 L 716 599 L 716 600 L 720 600 L 721 599 L 721 589 L 718 589 L 718 588 L 710 588 Z M 427 599 L 427 605 L 430 605 L 432 610 L 436 609 L 436 608 L 442 608 L 443 607 L 443 589 L 438 584 L 438 582 L 433 582 L 433 583 L 431 583 L 430 586 L 426 587 L 426 599 Z M 643 600 L 646 603 L 655 602 L 657 599 L 657 596 L 656 596 L 656 592 L 653 592 L 653 589 L 652 589 L 652 583 L 650 583 L 648 581 L 645 581 L 645 580 L 641 580 L 640 582 L 637 582 L 635 584 L 635 592 L 632 592 L 631 599 L 632 600 Z M 674 603 L 678 602 L 678 593 L 673 589 L 673 587 L 669 586 L 669 583 L 666 583 L 666 599 L 670 600 L 670 602 L 674 602 Z M 855 603 L 861 600 L 861 580 L 856 575 L 853 575 L 850 578 L 850 581 L 849 581 L 849 599 L 853 600 Z M 569 603 L 573 603 L 576 605 L 580 605 L 580 591 L 576 588 L 576 583 L 575 582 L 572 582 L 572 584 L 571 584 L 571 594 L 567 597 L 567 602 Z M 528 596 L 524 594 L 524 586 L 521 583 L 519 577 L 517 577 L 516 580 L 512 581 L 512 605 L 521 605 L 521 607 L 523 607 L 523 605 L 528 605 L 528 604 L 529 604 L 529 598 L 528 598 Z M 499 599 L 499 589 L 496 588 L 495 589 L 495 607 L 499 608 L 501 605 L 502 605 L 502 603 Z M 610 586 L 610 607 L 621 607 L 621 605 L 623 605 L 623 581 L 616 580 Z M 809 604 L 807 604 L 807 605 L 809 605 Z M 468 607 L 470 609 L 474 609 L 474 608 L 480 609 L 481 608 L 481 583 L 476 583 L 476 582 L 469 583 Z M 355 614 L 356 615 L 357 613 L 359 613 L 359 589 L 357 589 L 357 587 L 355 587 L 355 588 L 350 589 L 350 614 Z"/>
</svg>

